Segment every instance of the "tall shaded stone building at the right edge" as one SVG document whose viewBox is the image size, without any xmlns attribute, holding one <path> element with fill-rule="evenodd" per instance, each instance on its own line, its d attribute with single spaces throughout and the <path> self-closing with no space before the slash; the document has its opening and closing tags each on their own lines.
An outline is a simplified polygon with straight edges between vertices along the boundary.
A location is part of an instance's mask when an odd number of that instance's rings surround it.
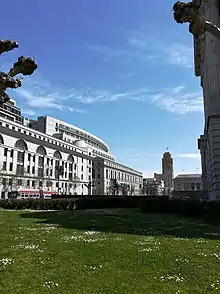
<svg viewBox="0 0 220 294">
<path fill-rule="evenodd" d="M 193 0 L 205 19 L 220 27 L 218 0 Z M 194 37 L 195 75 L 201 78 L 204 134 L 198 139 L 202 181 L 209 200 L 220 200 L 220 40 L 205 31 Z"/>
</svg>

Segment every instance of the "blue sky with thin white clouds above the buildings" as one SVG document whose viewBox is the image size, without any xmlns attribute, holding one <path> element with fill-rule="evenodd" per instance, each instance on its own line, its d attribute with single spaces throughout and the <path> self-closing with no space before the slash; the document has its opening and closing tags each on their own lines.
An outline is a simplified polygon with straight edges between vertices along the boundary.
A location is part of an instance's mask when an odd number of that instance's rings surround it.
<svg viewBox="0 0 220 294">
<path fill-rule="evenodd" d="M 175 174 L 200 170 L 200 80 L 192 35 L 173 21 L 175 1 L 4 1 L 1 38 L 39 68 L 10 91 L 25 116 L 50 115 L 102 138 L 118 161 L 149 176 L 167 148 Z"/>
</svg>

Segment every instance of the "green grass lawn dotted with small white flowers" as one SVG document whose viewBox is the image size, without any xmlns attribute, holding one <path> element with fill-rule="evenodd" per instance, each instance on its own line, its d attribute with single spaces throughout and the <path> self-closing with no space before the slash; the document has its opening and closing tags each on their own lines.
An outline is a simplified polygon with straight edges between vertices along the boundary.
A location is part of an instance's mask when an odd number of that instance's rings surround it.
<svg viewBox="0 0 220 294">
<path fill-rule="evenodd" d="M 220 227 L 128 209 L 1 210 L 0 293 L 220 293 Z"/>
</svg>

